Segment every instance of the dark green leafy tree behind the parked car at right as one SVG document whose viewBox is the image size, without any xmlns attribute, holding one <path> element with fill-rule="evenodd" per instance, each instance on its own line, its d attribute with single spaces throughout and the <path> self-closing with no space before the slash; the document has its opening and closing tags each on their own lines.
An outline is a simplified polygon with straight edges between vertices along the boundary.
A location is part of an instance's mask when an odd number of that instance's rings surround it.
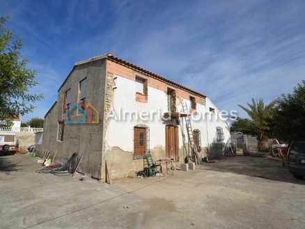
<svg viewBox="0 0 305 229">
<path fill-rule="evenodd" d="M 271 123 L 274 136 L 288 143 L 305 139 L 305 80 L 292 94 L 282 94 L 276 105 Z"/>
</svg>

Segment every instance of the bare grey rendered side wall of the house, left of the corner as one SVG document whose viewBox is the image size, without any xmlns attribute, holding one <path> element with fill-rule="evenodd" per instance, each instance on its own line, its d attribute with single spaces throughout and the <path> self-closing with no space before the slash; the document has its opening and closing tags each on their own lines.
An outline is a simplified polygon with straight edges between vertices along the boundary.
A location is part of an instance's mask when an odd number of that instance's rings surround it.
<svg viewBox="0 0 305 229">
<path fill-rule="evenodd" d="M 56 161 L 63 164 L 73 152 L 84 155 L 79 171 L 93 177 L 101 177 L 102 132 L 105 88 L 105 60 L 76 65 L 58 90 L 57 103 L 45 117 L 42 150 L 56 150 Z M 91 102 L 100 113 L 99 123 L 64 124 L 63 141 L 57 139 L 58 120 L 63 120 L 63 96 L 66 90 L 71 91 L 71 104 L 78 102 L 79 81 L 86 77 L 86 104 Z M 70 120 L 81 120 L 81 114 L 73 110 Z"/>
</svg>

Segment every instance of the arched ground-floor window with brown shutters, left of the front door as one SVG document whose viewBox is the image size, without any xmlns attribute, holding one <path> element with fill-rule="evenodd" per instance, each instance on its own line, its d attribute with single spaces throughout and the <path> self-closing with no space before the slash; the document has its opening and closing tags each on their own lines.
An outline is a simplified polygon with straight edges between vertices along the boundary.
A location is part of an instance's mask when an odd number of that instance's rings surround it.
<svg viewBox="0 0 305 229">
<path fill-rule="evenodd" d="M 149 127 L 136 125 L 134 127 L 134 159 L 141 159 L 149 150 Z"/>
</svg>

